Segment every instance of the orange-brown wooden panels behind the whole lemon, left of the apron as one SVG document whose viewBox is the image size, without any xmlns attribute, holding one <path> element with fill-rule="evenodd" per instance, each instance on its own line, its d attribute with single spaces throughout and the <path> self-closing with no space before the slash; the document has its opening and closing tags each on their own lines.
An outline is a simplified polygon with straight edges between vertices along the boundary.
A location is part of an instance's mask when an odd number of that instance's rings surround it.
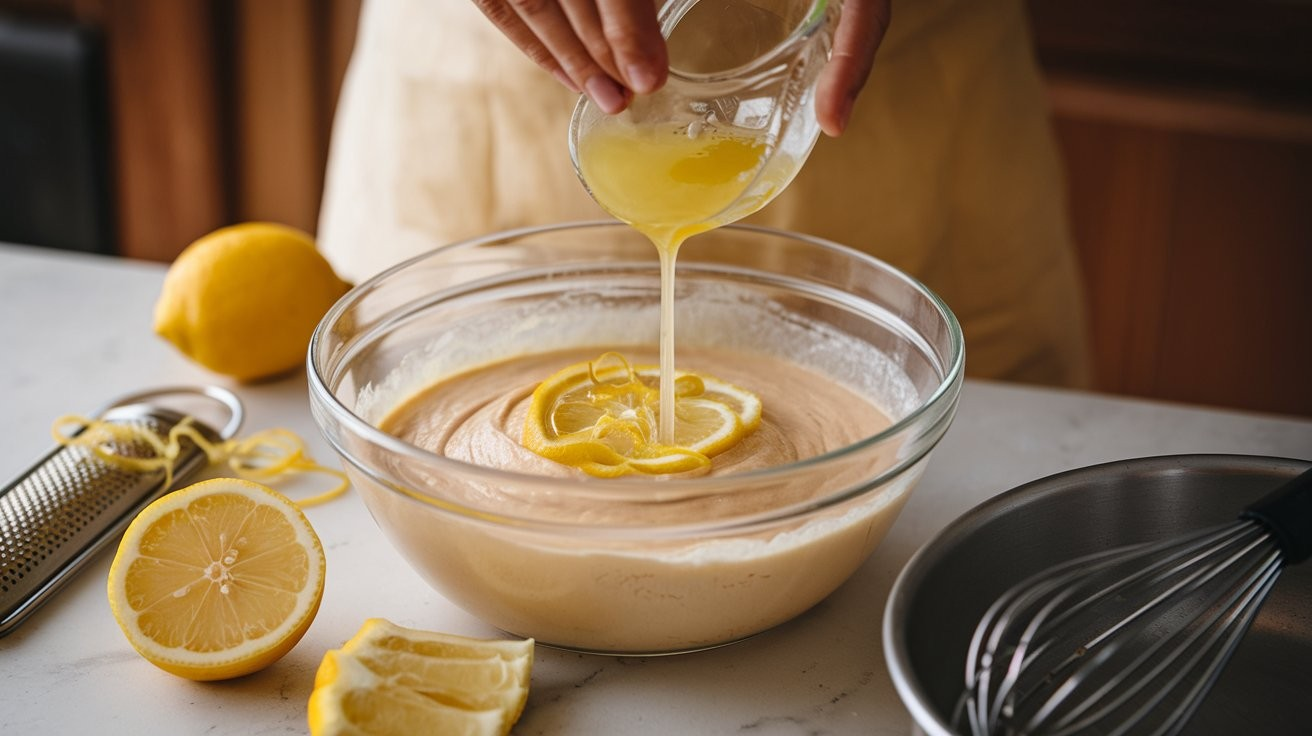
<svg viewBox="0 0 1312 736">
<path fill-rule="evenodd" d="M 361 0 L 0 0 L 101 30 L 118 249 L 171 261 L 266 219 L 314 232 Z"/>
</svg>

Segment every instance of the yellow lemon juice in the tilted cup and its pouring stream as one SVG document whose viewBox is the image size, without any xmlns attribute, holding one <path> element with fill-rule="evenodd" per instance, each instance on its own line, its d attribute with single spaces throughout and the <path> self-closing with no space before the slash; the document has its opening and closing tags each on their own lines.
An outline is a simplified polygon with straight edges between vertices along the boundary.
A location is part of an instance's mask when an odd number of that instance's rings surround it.
<svg viewBox="0 0 1312 736">
<path fill-rule="evenodd" d="M 690 133 L 690 130 L 693 130 Z M 739 201 L 766 160 L 764 135 L 741 129 L 597 125 L 579 168 L 597 202 L 646 235 L 660 255 L 659 441 L 674 441 L 674 260 L 680 245 L 761 209 L 774 188 Z M 732 207 L 732 209 L 731 209 Z"/>
</svg>

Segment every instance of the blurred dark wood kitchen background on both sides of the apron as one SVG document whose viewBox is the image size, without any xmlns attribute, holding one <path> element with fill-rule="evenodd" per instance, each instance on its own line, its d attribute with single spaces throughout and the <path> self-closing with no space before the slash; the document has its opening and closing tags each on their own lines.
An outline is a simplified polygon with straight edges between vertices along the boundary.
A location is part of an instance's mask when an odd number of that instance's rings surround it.
<svg viewBox="0 0 1312 736">
<path fill-rule="evenodd" d="M 1312 0 L 1030 0 L 1099 391 L 1312 416 Z M 315 230 L 359 0 L 0 0 L 0 241 Z M 896 22 L 896 18 L 895 18 Z"/>
</svg>

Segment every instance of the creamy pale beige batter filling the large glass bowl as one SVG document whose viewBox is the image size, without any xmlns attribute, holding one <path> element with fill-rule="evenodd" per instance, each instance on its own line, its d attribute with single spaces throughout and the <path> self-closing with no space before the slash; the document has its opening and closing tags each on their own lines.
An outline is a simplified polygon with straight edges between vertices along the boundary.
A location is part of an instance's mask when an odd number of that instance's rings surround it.
<svg viewBox="0 0 1312 736">
<path fill-rule="evenodd" d="M 348 466 L 375 520 L 437 589 L 512 634 L 568 648 L 653 653 L 741 639 L 828 596 L 893 522 L 920 463 L 878 491 L 893 443 L 863 447 L 785 478 L 741 475 L 711 495 L 680 496 L 697 480 L 628 476 L 589 493 L 590 476 L 520 443 L 530 395 L 546 377 L 606 349 L 531 354 L 454 375 L 399 401 L 382 429 L 433 453 L 501 470 L 579 479 L 542 488 L 531 476 L 500 485 L 461 472 L 395 468 L 413 491 L 384 488 Z M 634 365 L 653 350 L 619 348 Z M 851 445 L 888 425 L 853 388 L 785 358 L 687 348 L 680 367 L 757 394 L 761 426 L 712 458 L 732 481 L 752 468 Z M 380 460 L 383 462 L 383 460 Z M 623 484 L 631 483 L 634 493 Z M 710 485 L 710 484 L 707 484 Z M 821 510 L 816 499 L 862 489 Z M 657 501 L 661 493 L 673 499 Z M 761 516 L 757 516 L 761 514 Z M 501 520 L 518 520 L 505 522 Z M 722 523 L 724 523 L 722 526 Z"/>
</svg>

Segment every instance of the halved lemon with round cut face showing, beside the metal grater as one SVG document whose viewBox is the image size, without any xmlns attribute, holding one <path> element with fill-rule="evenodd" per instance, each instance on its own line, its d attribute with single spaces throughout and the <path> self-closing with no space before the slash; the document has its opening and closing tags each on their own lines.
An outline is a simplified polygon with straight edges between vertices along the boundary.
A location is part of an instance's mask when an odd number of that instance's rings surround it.
<svg viewBox="0 0 1312 736">
<path fill-rule="evenodd" d="M 261 669 L 319 610 L 324 552 L 276 491 L 219 478 L 146 506 L 109 568 L 109 606 L 143 657 L 190 680 Z"/>
</svg>

